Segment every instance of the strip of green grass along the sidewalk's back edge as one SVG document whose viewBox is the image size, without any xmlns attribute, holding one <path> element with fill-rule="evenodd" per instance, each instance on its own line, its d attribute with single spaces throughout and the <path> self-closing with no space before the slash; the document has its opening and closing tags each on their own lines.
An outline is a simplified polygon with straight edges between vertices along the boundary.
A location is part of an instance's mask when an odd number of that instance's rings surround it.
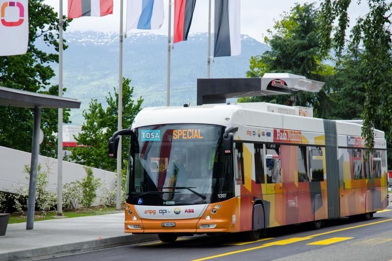
<svg viewBox="0 0 392 261">
<path fill-rule="evenodd" d="M 105 215 L 105 214 L 115 214 L 119 213 L 115 207 L 103 207 L 103 206 L 98 206 L 98 207 L 91 207 L 89 209 L 87 208 L 80 208 L 78 210 L 74 211 L 63 211 L 63 215 L 66 216 L 67 218 L 72 218 L 72 217 L 79 217 L 79 216 L 90 216 L 90 215 Z M 27 212 L 15 212 L 10 215 L 8 224 L 14 224 L 14 223 L 23 223 L 26 222 L 26 217 Z M 56 211 L 48 211 L 48 212 L 35 212 L 34 214 L 34 221 L 41 221 L 41 220 L 48 220 L 48 219 L 53 219 L 56 215 Z"/>
</svg>

